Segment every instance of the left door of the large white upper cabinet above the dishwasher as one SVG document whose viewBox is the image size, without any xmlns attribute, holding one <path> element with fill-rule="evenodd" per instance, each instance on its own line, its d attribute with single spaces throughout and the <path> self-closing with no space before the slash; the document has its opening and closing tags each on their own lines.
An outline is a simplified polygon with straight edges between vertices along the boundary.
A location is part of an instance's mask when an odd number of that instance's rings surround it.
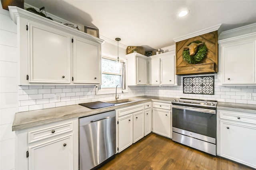
<svg viewBox="0 0 256 170">
<path fill-rule="evenodd" d="M 70 83 L 70 34 L 28 23 L 29 82 Z"/>
</svg>

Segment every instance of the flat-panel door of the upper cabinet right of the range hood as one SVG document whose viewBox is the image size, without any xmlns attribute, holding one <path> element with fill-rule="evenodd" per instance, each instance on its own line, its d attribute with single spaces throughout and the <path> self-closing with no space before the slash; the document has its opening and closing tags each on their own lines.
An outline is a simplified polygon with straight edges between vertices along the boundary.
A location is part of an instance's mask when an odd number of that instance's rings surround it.
<svg viewBox="0 0 256 170">
<path fill-rule="evenodd" d="M 223 84 L 254 84 L 255 40 L 238 41 L 220 45 Z"/>
</svg>

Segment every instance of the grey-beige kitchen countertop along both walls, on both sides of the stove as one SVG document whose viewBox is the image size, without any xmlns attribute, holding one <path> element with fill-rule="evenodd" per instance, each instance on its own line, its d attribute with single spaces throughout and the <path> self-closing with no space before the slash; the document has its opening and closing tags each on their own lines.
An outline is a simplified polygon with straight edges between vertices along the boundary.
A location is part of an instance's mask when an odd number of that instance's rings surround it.
<svg viewBox="0 0 256 170">
<path fill-rule="evenodd" d="M 139 96 L 133 97 L 134 102 L 125 104 L 117 104 L 115 106 L 104 107 L 100 109 L 90 109 L 88 107 L 76 105 L 54 107 L 48 109 L 40 109 L 34 111 L 24 111 L 15 114 L 14 122 L 12 124 L 12 131 L 18 131 L 29 127 L 38 125 L 44 125 L 46 123 L 52 123 L 56 121 L 62 121 L 66 119 L 84 117 L 118 109 L 121 107 L 132 106 L 134 104 L 142 104 L 145 102 L 166 102 L 172 103 L 174 98 L 157 97 L 157 96 Z M 252 104 L 236 104 L 236 103 L 225 103 L 218 102 L 217 109 L 226 109 L 230 111 L 246 111 L 250 113 L 256 113 L 256 105 Z"/>
</svg>

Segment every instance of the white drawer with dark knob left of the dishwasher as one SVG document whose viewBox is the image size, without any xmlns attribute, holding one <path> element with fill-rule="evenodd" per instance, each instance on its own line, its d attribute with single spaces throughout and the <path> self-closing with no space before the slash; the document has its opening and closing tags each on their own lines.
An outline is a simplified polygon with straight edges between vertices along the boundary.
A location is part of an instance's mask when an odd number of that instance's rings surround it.
<svg viewBox="0 0 256 170">
<path fill-rule="evenodd" d="M 67 133 L 73 130 L 73 122 L 66 122 L 59 125 L 44 125 L 38 130 L 29 131 L 28 132 L 28 143 L 32 143 L 35 141 L 40 141 L 42 139 L 46 139 L 49 137 L 53 137 L 56 135 L 60 135 L 62 133 Z"/>
</svg>

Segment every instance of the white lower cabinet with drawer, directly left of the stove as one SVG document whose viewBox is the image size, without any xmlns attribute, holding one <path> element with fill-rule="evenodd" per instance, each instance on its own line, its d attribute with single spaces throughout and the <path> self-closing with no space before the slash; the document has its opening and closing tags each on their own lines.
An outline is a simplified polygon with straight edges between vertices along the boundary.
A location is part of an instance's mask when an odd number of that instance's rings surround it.
<svg viewBox="0 0 256 170">
<path fill-rule="evenodd" d="M 166 109 L 162 109 L 166 108 Z M 153 102 L 153 132 L 171 138 L 171 104 Z"/>
</svg>

